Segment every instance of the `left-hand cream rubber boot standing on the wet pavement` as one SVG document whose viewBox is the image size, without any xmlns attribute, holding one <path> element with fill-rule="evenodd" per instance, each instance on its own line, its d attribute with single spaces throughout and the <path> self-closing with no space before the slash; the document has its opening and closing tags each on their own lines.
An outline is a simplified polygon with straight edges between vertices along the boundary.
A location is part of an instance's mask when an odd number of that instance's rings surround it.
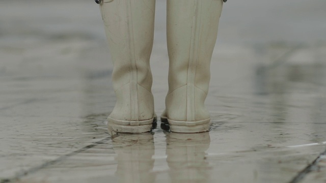
<svg viewBox="0 0 326 183">
<path fill-rule="evenodd" d="M 108 116 L 115 132 L 150 131 L 154 120 L 149 59 L 155 0 L 103 0 L 100 10 L 112 56 L 117 103 Z"/>
</svg>

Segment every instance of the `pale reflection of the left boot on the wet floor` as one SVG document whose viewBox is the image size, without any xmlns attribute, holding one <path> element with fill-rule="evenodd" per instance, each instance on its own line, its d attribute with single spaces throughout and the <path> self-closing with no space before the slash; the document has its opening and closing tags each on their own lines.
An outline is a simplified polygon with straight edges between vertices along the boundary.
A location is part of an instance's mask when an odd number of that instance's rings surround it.
<svg viewBox="0 0 326 183">
<path fill-rule="evenodd" d="M 119 182 L 154 182 L 154 139 L 148 134 L 119 134 L 112 140 Z"/>
</svg>

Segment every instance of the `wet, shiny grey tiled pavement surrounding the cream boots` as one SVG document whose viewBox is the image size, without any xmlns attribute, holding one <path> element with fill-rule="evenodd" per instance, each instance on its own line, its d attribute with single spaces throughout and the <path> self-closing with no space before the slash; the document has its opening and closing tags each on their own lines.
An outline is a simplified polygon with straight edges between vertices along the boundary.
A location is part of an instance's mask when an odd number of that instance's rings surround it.
<svg viewBox="0 0 326 183">
<path fill-rule="evenodd" d="M 115 96 L 93 1 L 0 2 L 1 182 L 326 182 L 326 2 L 228 1 L 210 132 L 107 133 Z M 165 1 L 151 57 L 168 92 Z"/>
</svg>

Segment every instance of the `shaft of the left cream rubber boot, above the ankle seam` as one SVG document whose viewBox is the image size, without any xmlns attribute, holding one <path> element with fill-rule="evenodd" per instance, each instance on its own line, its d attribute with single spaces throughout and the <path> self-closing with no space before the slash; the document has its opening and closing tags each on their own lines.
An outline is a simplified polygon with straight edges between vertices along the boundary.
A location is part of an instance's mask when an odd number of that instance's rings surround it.
<svg viewBox="0 0 326 183">
<path fill-rule="evenodd" d="M 154 12 L 153 0 L 103 0 L 101 14 L 114 65 L 115 90 L 127 83 L 150 90 Z"/>
</svg>

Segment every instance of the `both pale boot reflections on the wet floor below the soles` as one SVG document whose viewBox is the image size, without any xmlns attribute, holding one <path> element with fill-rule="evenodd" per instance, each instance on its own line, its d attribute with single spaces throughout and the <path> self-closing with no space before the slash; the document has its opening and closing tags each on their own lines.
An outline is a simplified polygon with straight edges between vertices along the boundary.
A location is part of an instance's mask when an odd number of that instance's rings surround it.
<svg viewBox="0 0 326 183">
<path fill-rule="evenodd" d="M 118 134 L 112 139 L 117 154 L 118 182 L 155 182 L 152 133 Z M 168 175 L 171 182 L 208 182 L 209 164 L 205 151 L 209 133 L 166 133 Z"/>
</svg>

